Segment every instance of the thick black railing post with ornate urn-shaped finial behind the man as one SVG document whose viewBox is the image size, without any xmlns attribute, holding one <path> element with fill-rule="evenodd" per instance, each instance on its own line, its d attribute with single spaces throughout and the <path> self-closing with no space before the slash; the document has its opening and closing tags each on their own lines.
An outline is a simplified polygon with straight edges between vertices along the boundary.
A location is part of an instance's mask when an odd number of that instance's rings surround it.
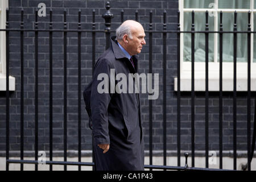
<svg viewBox="0 0 256 182">
<path fill-rule="evenodd" d="M 114 17 L 109 9 L 110 9 L 109 2 L 106 2 L 106 12 L 102 15 L 102 18 L 105 19 L 106 49 L 108 49 L 110 46 L 110 30 L 111 30 L 110 26 L 111 26 L 111 19 Z"/>
</svg>

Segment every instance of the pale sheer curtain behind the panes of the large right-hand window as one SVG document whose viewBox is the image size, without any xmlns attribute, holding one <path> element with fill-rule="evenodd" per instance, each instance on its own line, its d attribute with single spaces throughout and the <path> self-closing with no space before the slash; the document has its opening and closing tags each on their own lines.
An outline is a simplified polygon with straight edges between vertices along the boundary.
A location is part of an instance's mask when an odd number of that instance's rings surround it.
<svg viewBox="0 0 256 182">
<path fill-rule="evenodd" d="M 213 0 L 189 1 L 184 0 L 185 8 L 209 8 Z M 255 2 L 256 3 L 256 2 Z M 228 9 L 250 9 L 250 0 L 219 0 L 219 8 Z M 247 31 L 247 13 L 237 13 L 237 30 Z M 218 30 L 220 14 L 218 14 Z M 191 30 L 192 13 L 184 13 L 184 31 Z M 214 16 L 208 16 L 209 30 L 214 31 Z M 223 13 L 222 24 L 224 31 L 233 31 L 234 13 Z M 195 30 L 205 30 L 205 13 L 195 12 Z M 256 36 L 256 35 L 255 35 Z M 218 38 L 219 41 L 219 38 Z M 219 43 L 217 43 L 219 46 Z M 223 54 L 224 62 L 233 62 L 233 34 L 223 34 Z M 255 49 L 256 50 L 256 49 Z M 219 48 L 218 48 L 219 51 Z M 255 56 L 256 57 L 256 56 Z M 191 34 L 184 33 L 184 61 L 191 61 Z M 205 61 L 205 34 L 195 34 L 195 61 Z M 214 61 L 214 34 L 209 34 L 209 61 Z M 219 53 L 218 53 L 219 61 Z M 247 62 L 247 34 L 237 34 L 237 62 Z M 254 59 L 254 62 L 256 60 Z"/>
</svg>

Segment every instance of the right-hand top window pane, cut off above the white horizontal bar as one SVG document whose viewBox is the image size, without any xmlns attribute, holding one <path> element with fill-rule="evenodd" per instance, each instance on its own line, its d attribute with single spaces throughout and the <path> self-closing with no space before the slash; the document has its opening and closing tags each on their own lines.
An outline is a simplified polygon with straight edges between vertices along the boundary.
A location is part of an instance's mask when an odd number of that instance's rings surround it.
<svg viewBox="0 0 256 182">
<path fill-rule="evenodd" d="M 250 0 L 218 0 L 218 8 L 250 9 Z"/>
</svg>

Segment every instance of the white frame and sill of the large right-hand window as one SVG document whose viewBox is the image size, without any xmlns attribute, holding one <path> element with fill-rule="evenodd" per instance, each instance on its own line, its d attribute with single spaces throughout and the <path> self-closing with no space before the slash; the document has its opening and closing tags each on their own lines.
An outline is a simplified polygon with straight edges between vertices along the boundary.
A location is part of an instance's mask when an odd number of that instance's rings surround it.
<svg viewBox="0 0 256 182">
<path fill-rule="evenodd" d="M 214 0 L 214 9 L 194 9 L 184 8 L 184 0 L 179 0 L 179 11 L 180 11 L 180 31 L 184 30 L 184 12 L 205 12 L 213 11 L 214 15 L 214 31 L 219 31 L 218 14 L 216 12 L 222 11 L 222 13 L 248 13 L 251 11 L 251 31 L 254 30 L 254 0 L 250 0 L 250 9 L 218 9 L 218 0 Z M 187 34 L 187 33 L 186 33 Z M 183 44 L 184 34 L 180 34 L 180 90 L 191 91 L 191 62 L 183 60 Z M 218 55 L 218 36 L 219 34 L 214 33 L 214 62 L 209 62 L 209 91 L 219 90 L 219 68 L 220 64 L 217 62 Z M 222 63 L 222 82 L 223 91 L 233 90 L 233 63 L 223 62 Z M 254 71 L 254 72 L 253 72 Z M 177 78 L 175 78 L 175 90 L 177 90 Z M 205 91 L 205 63 L 195 61 L 195 90 Z M 237 63 L 237 91 L 247 90 L 247 63 Z M 256 91 L 256 63 L 253 63 L 253 34 L 251 34 L 251 90 Z"/>
</svg>

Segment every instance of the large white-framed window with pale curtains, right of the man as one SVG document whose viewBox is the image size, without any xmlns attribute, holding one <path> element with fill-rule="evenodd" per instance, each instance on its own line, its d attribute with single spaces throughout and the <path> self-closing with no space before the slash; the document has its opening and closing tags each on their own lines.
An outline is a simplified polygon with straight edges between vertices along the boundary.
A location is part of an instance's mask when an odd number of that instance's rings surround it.
<svg viewBox="0 0 256 182">
<path fill-rule="evenodd" d="M 256 25 L 256 0 L 179 0 L 181 31 L 191 31 L 191 13 L 195 11 L 195 30 L 205 30 L 208 10 L 209 31 L 219 31 L 220 11 L 224 31 L 233 31 L 234 11 L 237 30 L 247 31 L 247 13 L 251 12 L 251 31 Z M 233 90 L 233 34 L 223 34 L 223 90 Z M 180 36 L 181 91 L 191 90 L 191 34 Z M 219 90 L 219 34 L 209 34 L 209 91 Z M 175 90 L 177 79 L 175 78 Z M 205 90 L 205 34 L 195 34 L 195 90 Z M 237 34 L 237 91 L 247 90 L 247 34 Z M 256 36 L 251 34 L 251 90 L 256 90 Z"/>
</svg>

